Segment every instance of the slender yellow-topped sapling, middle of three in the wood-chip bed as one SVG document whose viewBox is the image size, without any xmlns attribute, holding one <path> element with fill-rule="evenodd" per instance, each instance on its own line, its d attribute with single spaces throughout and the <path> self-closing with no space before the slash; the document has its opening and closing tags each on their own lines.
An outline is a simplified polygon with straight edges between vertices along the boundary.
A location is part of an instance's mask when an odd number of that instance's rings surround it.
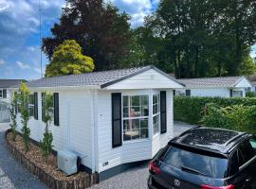
<svg viewBox="0 0 256 189">
<path fill-rule="evenodd" d="M 22 82 L 19 87 L 19 94 L 18 94 L 18 106 L 21 112 L 21 119 L 22 119 L 22 137 L 23 143 L 25 146 L 25 150 L 28 151 L 28 142 L 29 142 L 29 135 L 30 129 L 27 127 L 27 122 L 29 120 L 29 113 L 28 113 L 28 95 L 29 91 L 27 85 Z"/>
</svg>

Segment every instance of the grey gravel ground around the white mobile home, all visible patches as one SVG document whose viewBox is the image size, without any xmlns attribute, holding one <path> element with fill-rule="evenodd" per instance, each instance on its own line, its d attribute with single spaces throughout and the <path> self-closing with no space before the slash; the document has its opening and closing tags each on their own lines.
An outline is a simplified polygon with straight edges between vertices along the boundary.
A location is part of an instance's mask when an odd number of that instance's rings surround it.
<svg viewBox="0 0 256 189">
<path fill-rule="evenodd" d="M 8 124 L 0 123 L 0 189 L 46 189 L 46 185 L 36 177 L 29 174 L 22 164 L 12 159 L 5 145 L 5 131 Z M 174 135 L 191 129 L 192 126 L 182 123 L 174 123 Z M 147 163 L 131 168 L 113 178 L 101 181 L 91 189 L 146 189 L 148 178 Z"/>
</svg>

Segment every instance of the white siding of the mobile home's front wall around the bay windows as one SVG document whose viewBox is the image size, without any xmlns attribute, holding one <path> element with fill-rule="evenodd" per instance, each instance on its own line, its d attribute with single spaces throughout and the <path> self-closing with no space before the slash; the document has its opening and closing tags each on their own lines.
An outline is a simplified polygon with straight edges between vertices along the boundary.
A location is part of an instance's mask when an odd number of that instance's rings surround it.
<svg viewBox="0 0 256 189">
<path fill-rule="evenodd" d="M 119 91 L 122 94 L 152 94 L 152 90 L 137 90 L 137 91 Z M 168 132 L 155 137 L 154 144 L 152 142 L 152 130 L 149 131 L 148 139 L 134 140 L 123 142 L 122 146 L 112 147 L 112 120 L 111 120 L 111 94 L 114 91 L 99 91 L 98 95 L 98 138 L 99 138 L 99 172 L 112 168 L 122 163 L 132 163 L 151 159 L 155 152 L 167 144 L 168 139 L 173 137 L 173 100 L 170 90 L 167 93 L 167 116 L 168 116 Z M 151 114 L 151 106 L 150 106 Z M 149 118 L 151 127 L 151 119 Z M 154 145 L 154 146 L 153 146 Z M 108 162 L 103 166 L 103 163 Z"/>
</svg>

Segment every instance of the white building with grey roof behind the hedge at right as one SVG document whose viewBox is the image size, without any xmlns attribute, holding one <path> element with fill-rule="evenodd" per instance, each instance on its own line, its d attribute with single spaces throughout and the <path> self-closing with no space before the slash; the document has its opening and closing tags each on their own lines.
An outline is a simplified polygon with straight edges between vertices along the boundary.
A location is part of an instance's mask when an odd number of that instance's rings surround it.
<svg viewBox="0 0 256 189">
<path fill-rule="evenodd" d="M 202 77 L 177 79 L 186 88 L 175 90 L 175 95 L 245 97 L 251 83 L 247 77 Z"/>
</svg>

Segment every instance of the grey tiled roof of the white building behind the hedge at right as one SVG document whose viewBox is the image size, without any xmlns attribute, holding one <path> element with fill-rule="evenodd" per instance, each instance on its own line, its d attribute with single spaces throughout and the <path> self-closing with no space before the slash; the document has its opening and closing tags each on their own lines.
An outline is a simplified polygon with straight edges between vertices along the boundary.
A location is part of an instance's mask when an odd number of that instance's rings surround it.
<svg viewBox="0 0 256 189">
<path fill-rule="evenodd" d="M 204 87 L 234 87 L 239 80 L 245 77 L 205 77 L 177 79 L 186 85 L 186 88 Z"/>
</svg>

